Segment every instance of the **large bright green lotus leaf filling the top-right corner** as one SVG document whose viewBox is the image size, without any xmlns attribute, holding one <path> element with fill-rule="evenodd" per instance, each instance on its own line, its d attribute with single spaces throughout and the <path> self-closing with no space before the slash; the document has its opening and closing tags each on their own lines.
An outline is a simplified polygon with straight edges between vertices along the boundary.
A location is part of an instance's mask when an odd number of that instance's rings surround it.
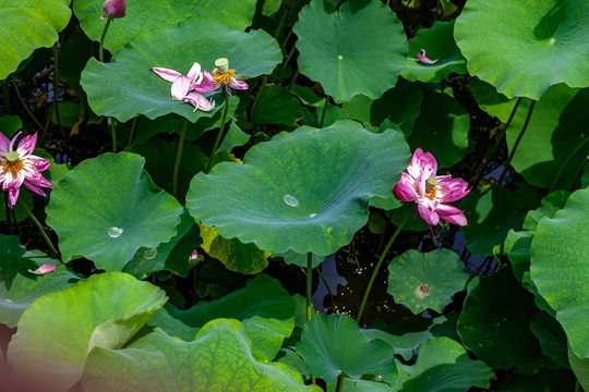
<svg viewBox="0 0 589 392">
<path fill-rule="evenodd" d="M 508 98 L 589 86 L 587 0 L 470 0 L 454 35 L 470 74 Z"/>
</svg>

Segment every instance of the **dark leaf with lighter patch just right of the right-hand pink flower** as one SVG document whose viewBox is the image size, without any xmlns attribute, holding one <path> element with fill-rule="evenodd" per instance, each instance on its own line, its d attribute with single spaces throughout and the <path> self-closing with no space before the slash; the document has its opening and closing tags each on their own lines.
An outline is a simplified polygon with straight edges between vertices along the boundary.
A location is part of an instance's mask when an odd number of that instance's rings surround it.
<svg viewBox="0 0 589 392">
<path fill-rule="evenodd" d="M 482 186 L 462 199 L 459 208 L 468 224 L 460 231 L 474 256 L 492 255 L 493 246 L 505 240 L 509 229 L 519 229 L 521 215 L 515 207 L 512 193 L 501 186 Z"/>
</svg>

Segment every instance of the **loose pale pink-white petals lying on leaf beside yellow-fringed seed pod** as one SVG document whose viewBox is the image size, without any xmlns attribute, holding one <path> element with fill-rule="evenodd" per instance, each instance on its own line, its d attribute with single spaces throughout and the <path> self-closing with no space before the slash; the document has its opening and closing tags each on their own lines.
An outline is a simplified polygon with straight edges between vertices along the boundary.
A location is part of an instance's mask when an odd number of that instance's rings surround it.
<svg viewBox="0 0 589 392">
<path fill-rule="evenodd" d="M 154 66 L 151 69 L 156 75 L 161 77 L 166 82 L 171 82 L 171 97 L 172 100 L 188 101 L 194 107 L 193 111 L 211 111 L 215 108 L 215 102 L 209 101 L 203 95 L 192 91 L 194 85 L 201 83 L 203 79 L 203 73 L 201 72 L 201 64 L 195 62 L 190 69 L 187 75 L 181 74 L 178 71 Z"/>
</svg>

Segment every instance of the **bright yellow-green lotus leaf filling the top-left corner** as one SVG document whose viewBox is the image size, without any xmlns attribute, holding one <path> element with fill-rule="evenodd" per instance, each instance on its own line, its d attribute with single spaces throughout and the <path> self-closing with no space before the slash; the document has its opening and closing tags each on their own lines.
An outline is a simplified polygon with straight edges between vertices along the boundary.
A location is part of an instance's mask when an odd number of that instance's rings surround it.
<svg viewBox="0 0 589 392">
<path fill-rule="evenodd" d="M 50 47 L 68 25 L 71 0 L 2 0 L 0 81 L 40 47 Z M 34 26 L 34 28 L 32 28 Z"/>
</svg>

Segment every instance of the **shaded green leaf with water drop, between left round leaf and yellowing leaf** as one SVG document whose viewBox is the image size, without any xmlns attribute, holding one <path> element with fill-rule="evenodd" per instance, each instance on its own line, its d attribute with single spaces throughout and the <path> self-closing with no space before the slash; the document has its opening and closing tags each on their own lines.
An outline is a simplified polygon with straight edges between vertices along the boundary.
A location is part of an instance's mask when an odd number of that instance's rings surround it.
<svg viewBox="0 0 589 392">
<path fill-rule="evenodd" d="M 123 272 L 137 279 L 146 279 L 153 272 L 170 271 L 187 278 L 190 269 L 189 258 L 202 244 L 199 226 L 188 211 L 182 213 L 178 234 L 167 243 L 155 247 L 141 248 L 133 258 L 124 265 Z"/>
</svg>

